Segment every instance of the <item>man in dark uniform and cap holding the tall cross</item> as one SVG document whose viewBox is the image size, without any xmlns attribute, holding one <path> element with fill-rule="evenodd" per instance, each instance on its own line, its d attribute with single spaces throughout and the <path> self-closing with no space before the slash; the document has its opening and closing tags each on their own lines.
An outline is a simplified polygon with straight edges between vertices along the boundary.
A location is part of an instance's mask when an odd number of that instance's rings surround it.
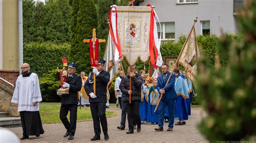
<svg viewBox="0 0 256 143">
<path fill-rule="evenodd" d="M 99 67 L 93 68 L 92 72 L 89 73 L 89 80 L 87 80 L 84 85 L 87 95 L 90 95 L 89 102 L 95 132 L 95 136 L 91 139 L 92 141 L 100 140 L 100 124 L 102 125 L 104 139 L 109 139 L 109 134 L 107 134 L 107 120 L 105 112 L 107 102 L 107 83 L 109 83 L 110 74 L 109 72 L 103 70 L 105 62 L 105 60 L 99 60 Z M 93 73 L 96 75 L 96 95 L 93 93 Z"/>
</svg>

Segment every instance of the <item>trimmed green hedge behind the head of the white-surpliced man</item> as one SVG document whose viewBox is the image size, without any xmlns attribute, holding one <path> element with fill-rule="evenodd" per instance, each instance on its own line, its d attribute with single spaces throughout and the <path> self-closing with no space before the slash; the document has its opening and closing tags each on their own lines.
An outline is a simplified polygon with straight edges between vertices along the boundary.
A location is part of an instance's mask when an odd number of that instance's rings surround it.
<svg viewBox="0 0 256 143">
<path fill-rule="evenodd" d="M 24 44 L 24 62 L 29 63 L 31 71 L 42 77 L 49 70 L 63 66 L 62 57 L 67 57 L 69 44 L 52 44 L 50 42 Z M 69 62 L 69 57 L 67 57 Z"/>
</svg>

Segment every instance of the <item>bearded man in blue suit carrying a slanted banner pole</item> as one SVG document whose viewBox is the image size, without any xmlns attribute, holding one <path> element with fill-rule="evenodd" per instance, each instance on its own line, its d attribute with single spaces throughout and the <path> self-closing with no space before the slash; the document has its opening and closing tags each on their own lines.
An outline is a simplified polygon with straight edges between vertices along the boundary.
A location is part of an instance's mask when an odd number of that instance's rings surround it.
<svg viewBox="0 0 256 143">
<path fill-rule="evenodd" d="M 161 67 L 161 75 L 157 77 L 157 90 L 160 92 L 160 94 L 163 94 L 163 97 L 161 98 L 161 101 L 159 103 L 159 123 L 158 127 L 154 128 L 156 131 L 163 131 L 164 130 L 164 109 L 165 106 L 167 106 L 169 111 L 169 125 L 167 131 L 172 131 L 173 128 L 173 122 L 174 122 L 174 102 L 176 101 L 177 94 L 174 89 L 175 84 L 175 75 L 169 72 L 168 70 L 169 65 L 163 64 Z M 166 82 L 168 78 L 171 75 L 171 79 L 169 80 L 168 84 L 166 85 Z M 166 86 L 165 86 L 166 85 Z"/>
</svg>

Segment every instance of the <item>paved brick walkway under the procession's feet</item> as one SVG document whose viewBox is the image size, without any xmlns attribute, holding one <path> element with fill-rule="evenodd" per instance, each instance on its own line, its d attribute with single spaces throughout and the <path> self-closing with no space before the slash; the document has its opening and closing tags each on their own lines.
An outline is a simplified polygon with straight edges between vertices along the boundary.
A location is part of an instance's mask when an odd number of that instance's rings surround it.
<svg viewBox="0 0 256 143">
<path fill-rule="evenodd" d="M 79 110 L 79 109 L 78 109 Z M 126 134 L 126 130 L 118 130 L 117 126 L 120 124 L 121 110 L 117 107 L 110 107 L 108 111 L 117 113 L 117 116 L 107 118 L 109 127 L 110 139 L 105 141 L 103 133 L 101 140 L 103 142 L 207 142 L 207 140 L 197 130 L 197 124 L 200 121 L 201 111 L 199 108 L 192 109 L 192 116 L 186 121 L 186 125 L 175 126 L 172 132 L 167 132 L 167 123 L 164 123 L 164 131 L 157 132 L 154 128 L 157 125 L 150 123 L 142 124 L 142 131 L 137 133 L 134 130 L 133 134 Z M 177 119 L 174 120 L 177 122 Z M 127 121 L 126 121 L 126 127 Z M 64 138 L 66 130 L 63 124 L 43 124 L 45 133 L 40 137 L 30 136 L 29 139 L 22 140 L 22 142 L 68 142 L 68 138 Z M 8 128 L 14 132 L 19 138 L 22 137 L 22 127 Z M 72 142 L 91 142 L 93 137 L 93 123 L 92 121 L 81 121 L 77 123 L 75 139 Z M 97 141 L 99 142 L 99 141 Z"/>
</svg>

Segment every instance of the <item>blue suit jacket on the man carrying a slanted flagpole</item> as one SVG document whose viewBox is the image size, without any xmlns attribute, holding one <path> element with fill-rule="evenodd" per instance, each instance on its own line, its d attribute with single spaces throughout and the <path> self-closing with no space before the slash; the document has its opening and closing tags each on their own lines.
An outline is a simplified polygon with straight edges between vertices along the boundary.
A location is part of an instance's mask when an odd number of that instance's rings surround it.
<svg viewBox="0 0 256 143">
<path fill-rule="evenodd" d="M 165 94 L 161 98 L 161 101 L 177 98 L 177 94 L 174 89 L 174 84 L 175 84 L 175 75 L 174 74 L 172 74 L 171 79 L 169 80 L 168 84 L 165 86 L 170 74 L 171 74 L 170 72 L 167 74 L 165 80 L 164 80 L 163 74 L 161 74 L 160 76 L 157 77 L 157 90 L 158 91 L 160 89 L 165 90 Z"/>
</svg>

